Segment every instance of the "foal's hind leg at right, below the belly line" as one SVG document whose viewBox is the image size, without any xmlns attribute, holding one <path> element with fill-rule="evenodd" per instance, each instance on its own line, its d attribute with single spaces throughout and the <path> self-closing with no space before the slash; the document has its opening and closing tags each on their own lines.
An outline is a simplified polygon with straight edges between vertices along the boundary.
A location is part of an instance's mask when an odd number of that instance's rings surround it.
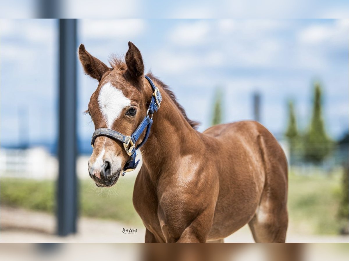
<svg viewBox="0 0 349 261">
<path fill-rule="evenodd" d="M 286 206 L 279 208 L 277 204 L 261 204 L 248 223 L 255 242 L 284 243 L 288 226 Z"/>
</svg>

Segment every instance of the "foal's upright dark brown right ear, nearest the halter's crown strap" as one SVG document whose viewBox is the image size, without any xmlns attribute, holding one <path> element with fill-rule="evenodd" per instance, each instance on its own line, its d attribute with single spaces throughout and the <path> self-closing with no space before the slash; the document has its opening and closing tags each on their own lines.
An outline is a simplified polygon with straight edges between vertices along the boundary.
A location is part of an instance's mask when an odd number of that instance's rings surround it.
<svg viewBox="0 0 349 261">
<path fill-rule="evenodd" d="M 144 64 L 142 55 L 132 42 L 128 42 L 128 51 L 125 56 L 125 62 L 127 65 L 127 71 L 129 72 L 129 74 L 131 74 L 132 77 L 138 78 L 140 76 L 143 76 Z"/>
</svg>

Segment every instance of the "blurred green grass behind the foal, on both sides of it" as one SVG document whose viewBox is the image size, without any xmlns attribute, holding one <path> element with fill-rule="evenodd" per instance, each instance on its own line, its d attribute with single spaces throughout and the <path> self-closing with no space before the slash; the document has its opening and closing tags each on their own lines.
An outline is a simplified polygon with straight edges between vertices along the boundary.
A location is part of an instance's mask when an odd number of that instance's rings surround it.
<svg viewBox="0 0 349 261">
<path fill-rule="evenodd" d="M 293 234 L 338 234 L 341 173 L 289 175 L 288 209 Z M 132 204 L 133 178 L 121 178 L 110 189 L 91 180 L 79 182 L 80 215 L 142 225 Z M 1 178 L 1 204 L 54 213 L 54 181 Z"/>
</svg>

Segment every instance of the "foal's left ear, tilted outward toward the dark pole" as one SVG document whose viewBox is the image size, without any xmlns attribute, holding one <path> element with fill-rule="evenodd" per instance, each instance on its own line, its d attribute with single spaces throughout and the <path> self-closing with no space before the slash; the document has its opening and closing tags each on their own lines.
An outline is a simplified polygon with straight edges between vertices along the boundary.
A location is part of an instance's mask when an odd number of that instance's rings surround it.
<svg viewBox="0 0 349 261">
<path fill-rule="evenodd" d="M 108 66 L 106 66 L 102 61 L 98 60 L 96 57 L 90 55 L 83 44 L 80 45 L 78 53 L 79 60 L 84 68 L 84 71 L 92 78 L 101 81 L 103 73 L 109 71 Z"/>
</svg>

